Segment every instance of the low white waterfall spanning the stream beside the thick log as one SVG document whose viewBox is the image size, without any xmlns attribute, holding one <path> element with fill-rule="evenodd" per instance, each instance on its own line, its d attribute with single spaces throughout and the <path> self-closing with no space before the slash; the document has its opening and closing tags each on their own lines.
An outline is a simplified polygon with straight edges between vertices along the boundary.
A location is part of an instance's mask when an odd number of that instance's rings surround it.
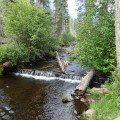
<svg viewBox="0 0 120 120">
<path fill-rule="evenodd" d="M 79 75 L 70 75 L 70 74 L 57 74 L 54 72 L 40 71 L 40 70 L 30 70 L 30 69 L 19 69 L 13 73 L 17 76 L 23 76 L 34 79 L 42 80 L 62 80 L 71 83 L 80 83 L 82 79 Z"/>
</svg>

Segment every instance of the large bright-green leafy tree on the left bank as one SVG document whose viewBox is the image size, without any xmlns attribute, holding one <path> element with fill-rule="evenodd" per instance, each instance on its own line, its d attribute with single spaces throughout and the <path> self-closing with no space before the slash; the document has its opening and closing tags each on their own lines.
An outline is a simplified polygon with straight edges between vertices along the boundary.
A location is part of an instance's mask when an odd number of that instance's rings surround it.
<svg viewBox="0 0 120 120">
<path fill-rule="evenodd" d="M 42 7 L 31 5 L 28 0 L 14 0 L 4 10 L 6 35 L 16 38 L 29 56 L 31 49 L 50 51 L 57 44 L 51 34 L 50 16 Z M 35 52 L 36 53 L 36 52 Z"/>
</svg>

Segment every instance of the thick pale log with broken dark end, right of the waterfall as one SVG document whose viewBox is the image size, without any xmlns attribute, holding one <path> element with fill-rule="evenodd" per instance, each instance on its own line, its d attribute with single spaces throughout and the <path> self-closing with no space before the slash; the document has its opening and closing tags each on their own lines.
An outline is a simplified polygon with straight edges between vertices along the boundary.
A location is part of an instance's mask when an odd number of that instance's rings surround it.
<svg viewBox="0 0 120 120">
<path fill-rule="evenodd" d="M 83 96 L 85 94 L 86 89 L 87 89 L 91 79 L 93 78 L 94 74 L 95 74 L 95 69 L 91 69 L 91 71 L 87 73 L 87 75 L 82 79 L 82 81 L 75 88 L 75 90 L 72 91 L 71 95 L 81 98 L 81 96 Z"/>
</svg>

